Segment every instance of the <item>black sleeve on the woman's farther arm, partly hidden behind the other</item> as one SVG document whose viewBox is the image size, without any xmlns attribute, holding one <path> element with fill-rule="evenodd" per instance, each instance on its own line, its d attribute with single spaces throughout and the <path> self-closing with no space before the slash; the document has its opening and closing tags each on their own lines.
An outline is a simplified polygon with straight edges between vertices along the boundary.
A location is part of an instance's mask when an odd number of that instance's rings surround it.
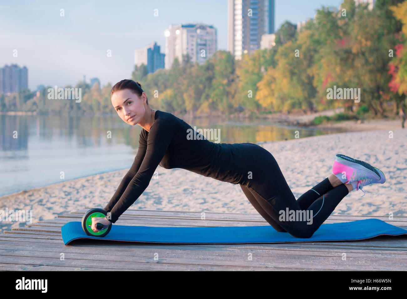
<svg viewBox="0 0 407 299">
<path fill-rule="evenodd" d="M 142 129 L 142 131 L 140 132 L 139 140 L 138 140 L 137 155 L 134 158 L 133 165 L 131 165 L 131 168 L 126 173 L 126 175 L 123 177 L 116 192 L 114 192 L 112 199 L 110 199 L 109 203 L 103 208 L 103 210 L 105 210 L 106 212 L 112 211 L 114 205 L 120 199 L 120 196 L 122 196 L 123 192 L 125 192 L 125 189 L 129 185 L 131 179 L 133 179 L 133 177 L 138 172 L 138 169 L 140 168 L 140 165 L 143 162 L 144 156 L 146 155 L 146 150 L 147 150 L 147 140 L 146 140 L 146 136 L 145 136 L 145 131 L 144 131 L 144 129 Z"/>
</svg>

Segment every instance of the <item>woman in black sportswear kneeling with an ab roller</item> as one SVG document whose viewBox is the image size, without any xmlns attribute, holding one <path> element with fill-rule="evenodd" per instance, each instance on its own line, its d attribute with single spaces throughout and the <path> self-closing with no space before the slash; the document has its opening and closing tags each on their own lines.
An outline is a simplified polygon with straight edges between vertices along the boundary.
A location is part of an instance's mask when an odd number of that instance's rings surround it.
<svg viewBox="0 0 407 299">
<path fill-rule="evenodd" d="M 336 155 L 333 174 L 295 200 L 273 155 L 252 143 L 217 144 L 191 138 L 189 124 L 171 113 L 153 110 L 140 83 L 122 80 L 110 98 L 120 118 L 142 127 L 133 165 L 104 210 L 107 217 L 92 219 L 105 229 L 115 223 L 147 188 L 158 165 L 183 168 L 206 177 L 239 184 L 250 203 L 277 231 L 310 238 L 350 191 L 384 183 L 379 169 L 344 155 Z M 283 216 L 293 210 L 296 217 Z M 304 212 L 308 217 L 300 217 Z M 303 214 L 304 215 L 304 214 Z M 311 215 L 311 217 L 310 217 Z M 307 219 L 308 218 L 308 219 Z"/>
</svg>

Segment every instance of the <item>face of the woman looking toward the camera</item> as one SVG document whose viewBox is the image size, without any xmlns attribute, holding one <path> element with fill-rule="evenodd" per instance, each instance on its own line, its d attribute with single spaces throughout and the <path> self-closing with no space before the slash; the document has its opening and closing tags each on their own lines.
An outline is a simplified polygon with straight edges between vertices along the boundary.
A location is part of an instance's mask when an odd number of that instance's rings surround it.
<svg viewBox="0 0 407 299">
<path fill-rule="evenodd" d="M 147 100 L 143 92 L 141 97 L 133 94 L 130 89 L 123 89 L 114 92 L 112 95 L 112 105 L 120 118 L 127 124 L 134 126 L 143 119 L 146 109 L 144 103 Z M 129 119 L 132 117 L 131 119 Z"/>
</svg>

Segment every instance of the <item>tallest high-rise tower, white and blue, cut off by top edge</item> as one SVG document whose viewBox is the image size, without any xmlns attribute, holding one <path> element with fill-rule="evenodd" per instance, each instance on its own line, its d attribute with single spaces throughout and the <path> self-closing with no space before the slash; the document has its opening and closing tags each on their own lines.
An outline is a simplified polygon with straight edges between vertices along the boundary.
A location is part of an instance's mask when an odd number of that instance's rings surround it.
<svg viewBox="0 0 407 299">
<path fill-rule="evenodd" d="M 228 0 L 228 51 L 235 59 L 261 48 L 261 36 L 274 33 L 274 0 Z"/>
</svg>

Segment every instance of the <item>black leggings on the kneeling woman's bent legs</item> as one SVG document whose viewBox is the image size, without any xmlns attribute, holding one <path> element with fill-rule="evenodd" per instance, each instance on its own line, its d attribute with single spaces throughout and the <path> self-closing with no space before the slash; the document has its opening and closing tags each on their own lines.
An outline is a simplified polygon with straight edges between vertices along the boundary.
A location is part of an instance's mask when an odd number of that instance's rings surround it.
<svg viewBox="0 0 407 299">
<path fill-rule="evenodd" d="M 276 231 L 288 232 L 296 238 L 310 238 L 349 193 L 344 184 L 333 188 L 326 178 L 295 200 L 276 159 L 269 151 L 251 143 L 246 143 L 245 151 L 247 177 L 239 185 L 257 212 Z M 308 175 L 313 176 L 312 173 Z M 294 211 L 291 218 L 289 211 Z"/>
</svg>

